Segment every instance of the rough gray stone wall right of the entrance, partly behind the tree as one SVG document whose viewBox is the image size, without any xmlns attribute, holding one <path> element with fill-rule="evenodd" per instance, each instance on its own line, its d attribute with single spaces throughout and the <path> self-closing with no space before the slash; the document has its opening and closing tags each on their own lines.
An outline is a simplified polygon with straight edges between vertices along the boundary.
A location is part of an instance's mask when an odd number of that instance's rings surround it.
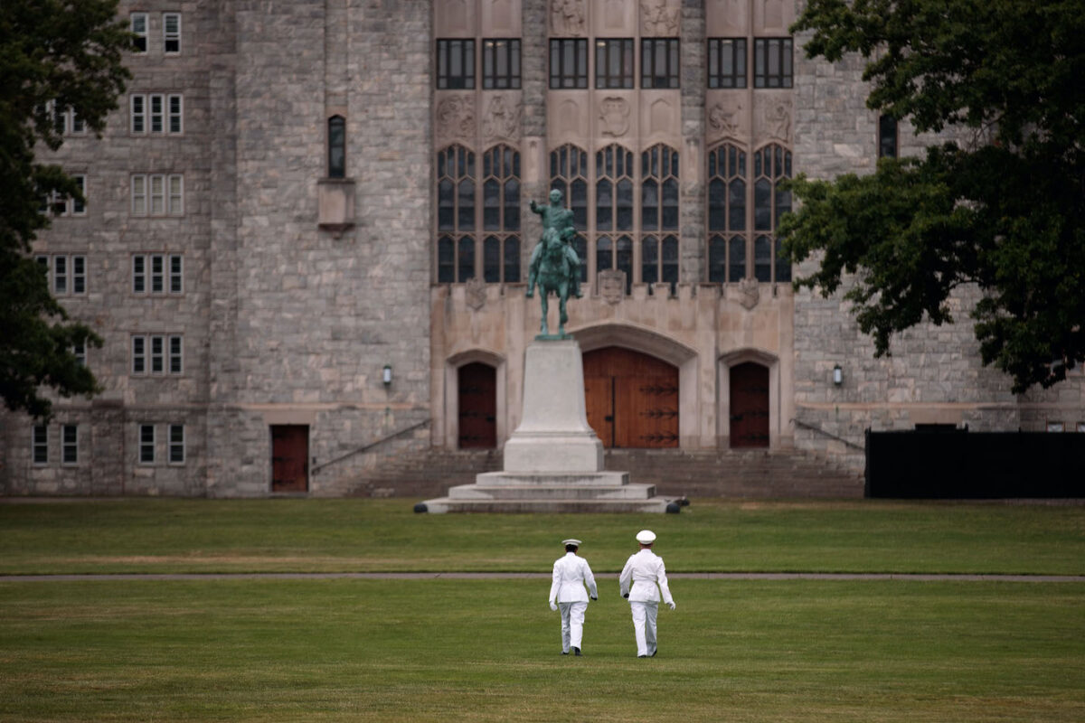
<svg viewBox="0 0 1085 723">
<path fill-rule="evenodd" d="M 795 171 L 825 179 L 872 172 L 878 116 L 866 107 L 861 59 L 850 56 L 833 65 L 809 61 L 801 50 L 805 40 L 795 38 Z M 918 155 L 935 140 L 917 137 L 901 124 L 903 156 Z M 816 260 L 809 260 L 796 268 L 796 276 L 816 268 Z M 969 315 L 979 296 L 978 288 L 960 289 L 952 299 L 954 324 L 920 324 L 894 337 L 891 357 L 876 359 L 843 292 L 828 299 L 796 293 L 796 446 L 861 468 L 867 428 L 936 423 L 967 424 L 980 431 L 1041 430 L 1039 417 L 1050 418 L 1052 411 L 1042 409 L 1039 400 L 1049 399 L 1058 400 L 1068 419 L 1085 416 L 1081 379 L 1019 399 L 1010 392 L 1008 376 L 983 366 Z M 843 371 L 839 387 L 831 382 L 835 364 Z"/>
</svg>

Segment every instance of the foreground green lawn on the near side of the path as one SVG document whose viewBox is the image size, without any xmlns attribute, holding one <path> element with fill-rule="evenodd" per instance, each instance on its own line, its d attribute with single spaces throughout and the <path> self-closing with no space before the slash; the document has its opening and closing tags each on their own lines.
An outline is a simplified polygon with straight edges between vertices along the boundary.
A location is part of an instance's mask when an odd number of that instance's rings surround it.
<svg viewBox="0 0 1085 723">
<path fill-rule="evenodd" d="M 585 657 L 529 580 L 0 582 L 4 721 L 1082 721 L 1085 584 L 676 580 Z"/>
</svg>

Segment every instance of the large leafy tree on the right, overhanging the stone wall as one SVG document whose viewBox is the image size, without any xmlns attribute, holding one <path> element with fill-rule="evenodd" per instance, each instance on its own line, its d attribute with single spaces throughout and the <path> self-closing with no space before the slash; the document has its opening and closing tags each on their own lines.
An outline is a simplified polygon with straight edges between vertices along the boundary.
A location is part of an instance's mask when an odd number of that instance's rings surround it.
<svg viewBox="0 0 1085 723">
<path fill-rule="evenodd" d="M 795 284 L 845 298 L 876 354 L 975 284 L 984 364 L 1013 391 L 1085 361 L 1085 13 L 1080 0 L 809 0 L 809 57 L 859 53 L 867 105 L 962 141 L 875 173 L 793 181 L 781 235 L 820 268 Z"/>
</svg>

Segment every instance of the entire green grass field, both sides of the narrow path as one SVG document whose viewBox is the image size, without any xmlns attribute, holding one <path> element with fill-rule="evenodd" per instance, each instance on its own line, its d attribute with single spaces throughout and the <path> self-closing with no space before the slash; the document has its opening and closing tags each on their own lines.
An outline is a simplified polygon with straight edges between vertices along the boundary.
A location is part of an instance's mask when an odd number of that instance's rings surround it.
<svg viewBox="0 0 1085 723">
<path fill-rule="evenodd" d="M 404 512 L 406 509 L 406 512 Z M 405 501 L 0 504 L 3 573 L 546 572 L 600 579 L 585 657 L 546 580 L 0 577 L 2 721 L 1083 721 L 1085 583 L 675 579 L 635 657 L 616 571 L 1081 574 L 1085 508 L 709 503 L 426 516 Z"/>
</svg>

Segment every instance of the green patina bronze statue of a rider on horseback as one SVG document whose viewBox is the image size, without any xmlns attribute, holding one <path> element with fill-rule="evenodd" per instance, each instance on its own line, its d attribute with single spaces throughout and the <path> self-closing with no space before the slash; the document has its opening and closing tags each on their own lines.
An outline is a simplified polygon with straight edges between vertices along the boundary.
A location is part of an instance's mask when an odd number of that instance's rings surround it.
<svg viewBox="0 0 1085 723">
<path fill-rule="evenodd" d="M 542 236 L 532 251 L 532 262 L 527 271 L 527 298 L 535 296 L 535 286 L 539 287 L 539 301 L 542 305 L 541 333 L 538 339 L 565 339 L 565 322 L 569 313 L 565 304 L 570 295 L 580 298 L 580 257 L 573 248 L 572 237 L 573 211 L 561 205 L 561 191 L 550 192 L 550 205 L 540 206 L 534 201 L 532 211 L 542 217 Z M 559 299 L 559 327 L 557 334 L 550 334 L 547 325 L 549 305 L 547 297 L 554 294 Z"/>
</svg>

